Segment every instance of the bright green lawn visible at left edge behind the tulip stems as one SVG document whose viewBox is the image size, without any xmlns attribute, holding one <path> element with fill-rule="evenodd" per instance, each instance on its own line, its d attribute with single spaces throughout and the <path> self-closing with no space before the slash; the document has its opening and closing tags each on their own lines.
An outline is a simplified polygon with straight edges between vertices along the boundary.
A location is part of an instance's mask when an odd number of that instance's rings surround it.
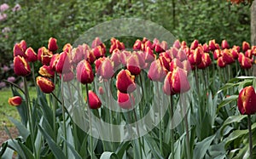
<svg viewBox="0 0 256 159">
<path fill-rule="evenodd" d="M 31 98 L 36 97 L 36 89 L 29 88 Z M 5 123 L 7 127 L 13 127 L 14 124 L 9 121 L 8 116 L 12 116 L 15 119 L 20 120 L 20 115 L 15 106 L 8 104 L 9 97 L 12 97 L 13 94 L 10 88 L 4 88 L 0 90 L 0 126 L 2 127 Z"/>
</svg>

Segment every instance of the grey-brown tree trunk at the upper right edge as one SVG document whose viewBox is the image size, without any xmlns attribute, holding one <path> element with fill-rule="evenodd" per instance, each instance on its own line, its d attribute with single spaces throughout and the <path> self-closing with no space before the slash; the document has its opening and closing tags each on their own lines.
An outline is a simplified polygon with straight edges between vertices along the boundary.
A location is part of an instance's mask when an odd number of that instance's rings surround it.
<svg viewBox="0 0 256 159">
<path fill-rule="evenodd" d="M 253 1 L 253 4 L 251 6 L 251 45 L 256 45 L 256 1 Z M 255 64 L 253 64 L 253 76 L 256 76 Z"/>
</svg>

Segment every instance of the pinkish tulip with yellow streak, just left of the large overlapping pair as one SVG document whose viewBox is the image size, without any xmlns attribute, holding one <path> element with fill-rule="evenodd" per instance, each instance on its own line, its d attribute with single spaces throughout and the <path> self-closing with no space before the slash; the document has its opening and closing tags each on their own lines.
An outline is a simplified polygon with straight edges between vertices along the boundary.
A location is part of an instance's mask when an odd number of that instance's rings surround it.
<svg viewBox="0 0 256 159">
<path fill-rule="evenodd" d="M 160 60 L 154 60 L 148 70 L 148 78 L 156 82 L 164 82 L 167 70 L 161 65 Z"/>
</svg>

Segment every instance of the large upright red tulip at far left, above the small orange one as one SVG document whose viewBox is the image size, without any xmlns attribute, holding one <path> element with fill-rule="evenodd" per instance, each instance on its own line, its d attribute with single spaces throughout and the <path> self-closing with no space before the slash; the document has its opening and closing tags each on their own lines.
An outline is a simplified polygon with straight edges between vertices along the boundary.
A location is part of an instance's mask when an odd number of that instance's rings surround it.
<svg viewBox="0 0 256 159">
<path fill-rule="evenodd" d="M 31 69 L 24 57 L 15 56 L 14 71 L 17 76 L 26 77 L 30 74 Z"/>
</svg>

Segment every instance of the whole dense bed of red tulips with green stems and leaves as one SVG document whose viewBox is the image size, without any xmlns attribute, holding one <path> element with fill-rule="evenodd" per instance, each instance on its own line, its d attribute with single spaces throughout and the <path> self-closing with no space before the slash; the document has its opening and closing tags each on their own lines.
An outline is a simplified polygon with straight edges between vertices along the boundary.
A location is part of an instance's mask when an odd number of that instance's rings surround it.
<svg viewBox="0 0 256 159">
<path fill-rule="evenodd" d="M 11 158 L 14 151 L 21 158 L 256 156 L 256 79 L 250 77 L 256 46 L 244 42 L 241 48 L 230 47 L 226 40 L 188 45 L 144 37 L 131 50 L 116 38 L 110 42 L 108 49 L 96 37 L 91 45 L 67 43 L 60 49 L 50 37 L 38 53 L 24 40 L 15 44 L 14 71 L 25 87 L 9 82 L 14 94 L 9 104 L 17 106 L 21 121 L 9 119 L 20 136 L 6 141 L 0 156 Z M 42 66 L 37 71 L 38 61 Z M 37 99 L 29 97 L 28 76 Z M 151 113 L 154 105 L 157 110 Z M 87 113 L 89 122 L 73 115 L 75 107 Z M 124 133 L 130 137 L 117 137 L 113 129 L 99 133 L 98 139 L 92 135 L 98 133 L 92 116 L 129 125 L 150 113 L 154 127 L 137 124 L 128 128 L 132 133 Z M 91 135 L 81 123 L 89 125 Z"/>
</svg>

